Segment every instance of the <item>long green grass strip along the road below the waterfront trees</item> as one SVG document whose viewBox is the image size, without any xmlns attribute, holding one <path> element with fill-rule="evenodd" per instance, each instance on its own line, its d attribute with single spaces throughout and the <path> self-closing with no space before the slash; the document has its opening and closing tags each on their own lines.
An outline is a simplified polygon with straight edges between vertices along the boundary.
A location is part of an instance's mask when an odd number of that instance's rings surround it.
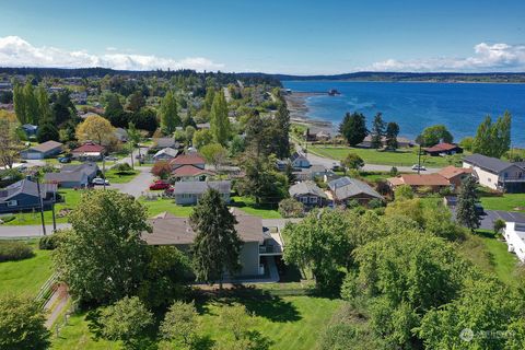
<svg viewBox="0 0 525 350">
<path fill-rule="evenodd" d="M 348 153 L 359 154 L 368 164 L 384 164 L 395 166 L 412 166 L 418 163 L 418 148 L 399 149 L 395 152 L 377 151 L 371 149 L 359 149 L 350 147 L 324 147 L 308 145 L 308 152 L 334 160 L 342 160 Z M 421 155 L 421 164 L 427 167 L 442 167 L 455 164 L 460 160 L 462 155 L 453 156 L 428 156 Z"/>
</svg>

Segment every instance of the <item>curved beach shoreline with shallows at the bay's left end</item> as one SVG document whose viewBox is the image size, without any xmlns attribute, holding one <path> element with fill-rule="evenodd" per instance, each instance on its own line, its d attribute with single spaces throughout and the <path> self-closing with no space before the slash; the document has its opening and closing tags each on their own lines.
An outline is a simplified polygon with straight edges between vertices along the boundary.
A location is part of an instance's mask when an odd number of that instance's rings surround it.
<svg viewBox="0 0 525 350">
<path fill-rule="evenodd" d="M 325 93 L 292 92 L 289 95 L 284 95 L 288 110 L 290 110 L 290 120 L 292 122 L 315 127 L 316 130 L 323 130 L 334 135 L 335 126 L 331 124 L 331 121 L 312 119 L 307 117 L 308 106 L 306 105 L 306 98 L 320 95 L 325 95 Z"/>
</svg>

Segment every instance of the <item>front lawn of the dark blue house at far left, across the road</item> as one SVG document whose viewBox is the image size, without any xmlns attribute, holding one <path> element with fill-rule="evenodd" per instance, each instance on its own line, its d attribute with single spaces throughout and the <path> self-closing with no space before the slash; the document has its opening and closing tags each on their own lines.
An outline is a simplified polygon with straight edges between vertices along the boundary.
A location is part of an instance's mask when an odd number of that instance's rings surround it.
<svg viewBox="0 0 525 350">
<path fill-rule="evenodd" d="M 60 210 L 74 209 L 79 203 L 80 196 L 83 190 L 74 190 L 70 188 L 59 189 L 60 196 L 65 198 L 63 202 L 59 202 L 55 206 L 55 212 L 57 218 L 57 223 L 68 222 L 67 215 L 60 215 Z M 5 225 L 38 225 L 40 224 L 40 213 L 35 210 L 34 212 L 21 212 L 13 213 L 15 219 L 5 223 Z M 46 224 L 52 223 L 52 212 L 51 210 L 44 211 L 44 221 Z"/>
</svg>

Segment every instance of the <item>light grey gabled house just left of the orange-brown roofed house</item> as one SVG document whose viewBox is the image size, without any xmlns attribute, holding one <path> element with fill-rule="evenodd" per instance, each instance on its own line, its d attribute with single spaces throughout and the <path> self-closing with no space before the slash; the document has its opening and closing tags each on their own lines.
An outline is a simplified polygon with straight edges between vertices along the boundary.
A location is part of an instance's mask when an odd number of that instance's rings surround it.
<svg viewBox="0 0 525 350">
<path fill-rule="evenodd" d="M 328 183 L 331 197 L 338 203 L 348 203 L 357 200 L 360 205 L 366 205 L 372 199 L 384 200 L 383 196 L 377 194 L 366 183 L 348 176 L 334 179 Z"/>
</svg>

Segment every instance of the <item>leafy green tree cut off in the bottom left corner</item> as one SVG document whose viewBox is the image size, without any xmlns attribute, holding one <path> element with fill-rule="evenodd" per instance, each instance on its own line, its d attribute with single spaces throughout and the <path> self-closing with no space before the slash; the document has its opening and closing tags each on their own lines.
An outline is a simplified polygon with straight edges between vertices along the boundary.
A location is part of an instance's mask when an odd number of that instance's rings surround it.
<svg viewBox="0 0 525 350">
<path fill-rule="evenodd" d="M 30 299 L 0 295 L 0 349 L 44 350 L 50 346 L 46 317 Z"/>
</svg>

